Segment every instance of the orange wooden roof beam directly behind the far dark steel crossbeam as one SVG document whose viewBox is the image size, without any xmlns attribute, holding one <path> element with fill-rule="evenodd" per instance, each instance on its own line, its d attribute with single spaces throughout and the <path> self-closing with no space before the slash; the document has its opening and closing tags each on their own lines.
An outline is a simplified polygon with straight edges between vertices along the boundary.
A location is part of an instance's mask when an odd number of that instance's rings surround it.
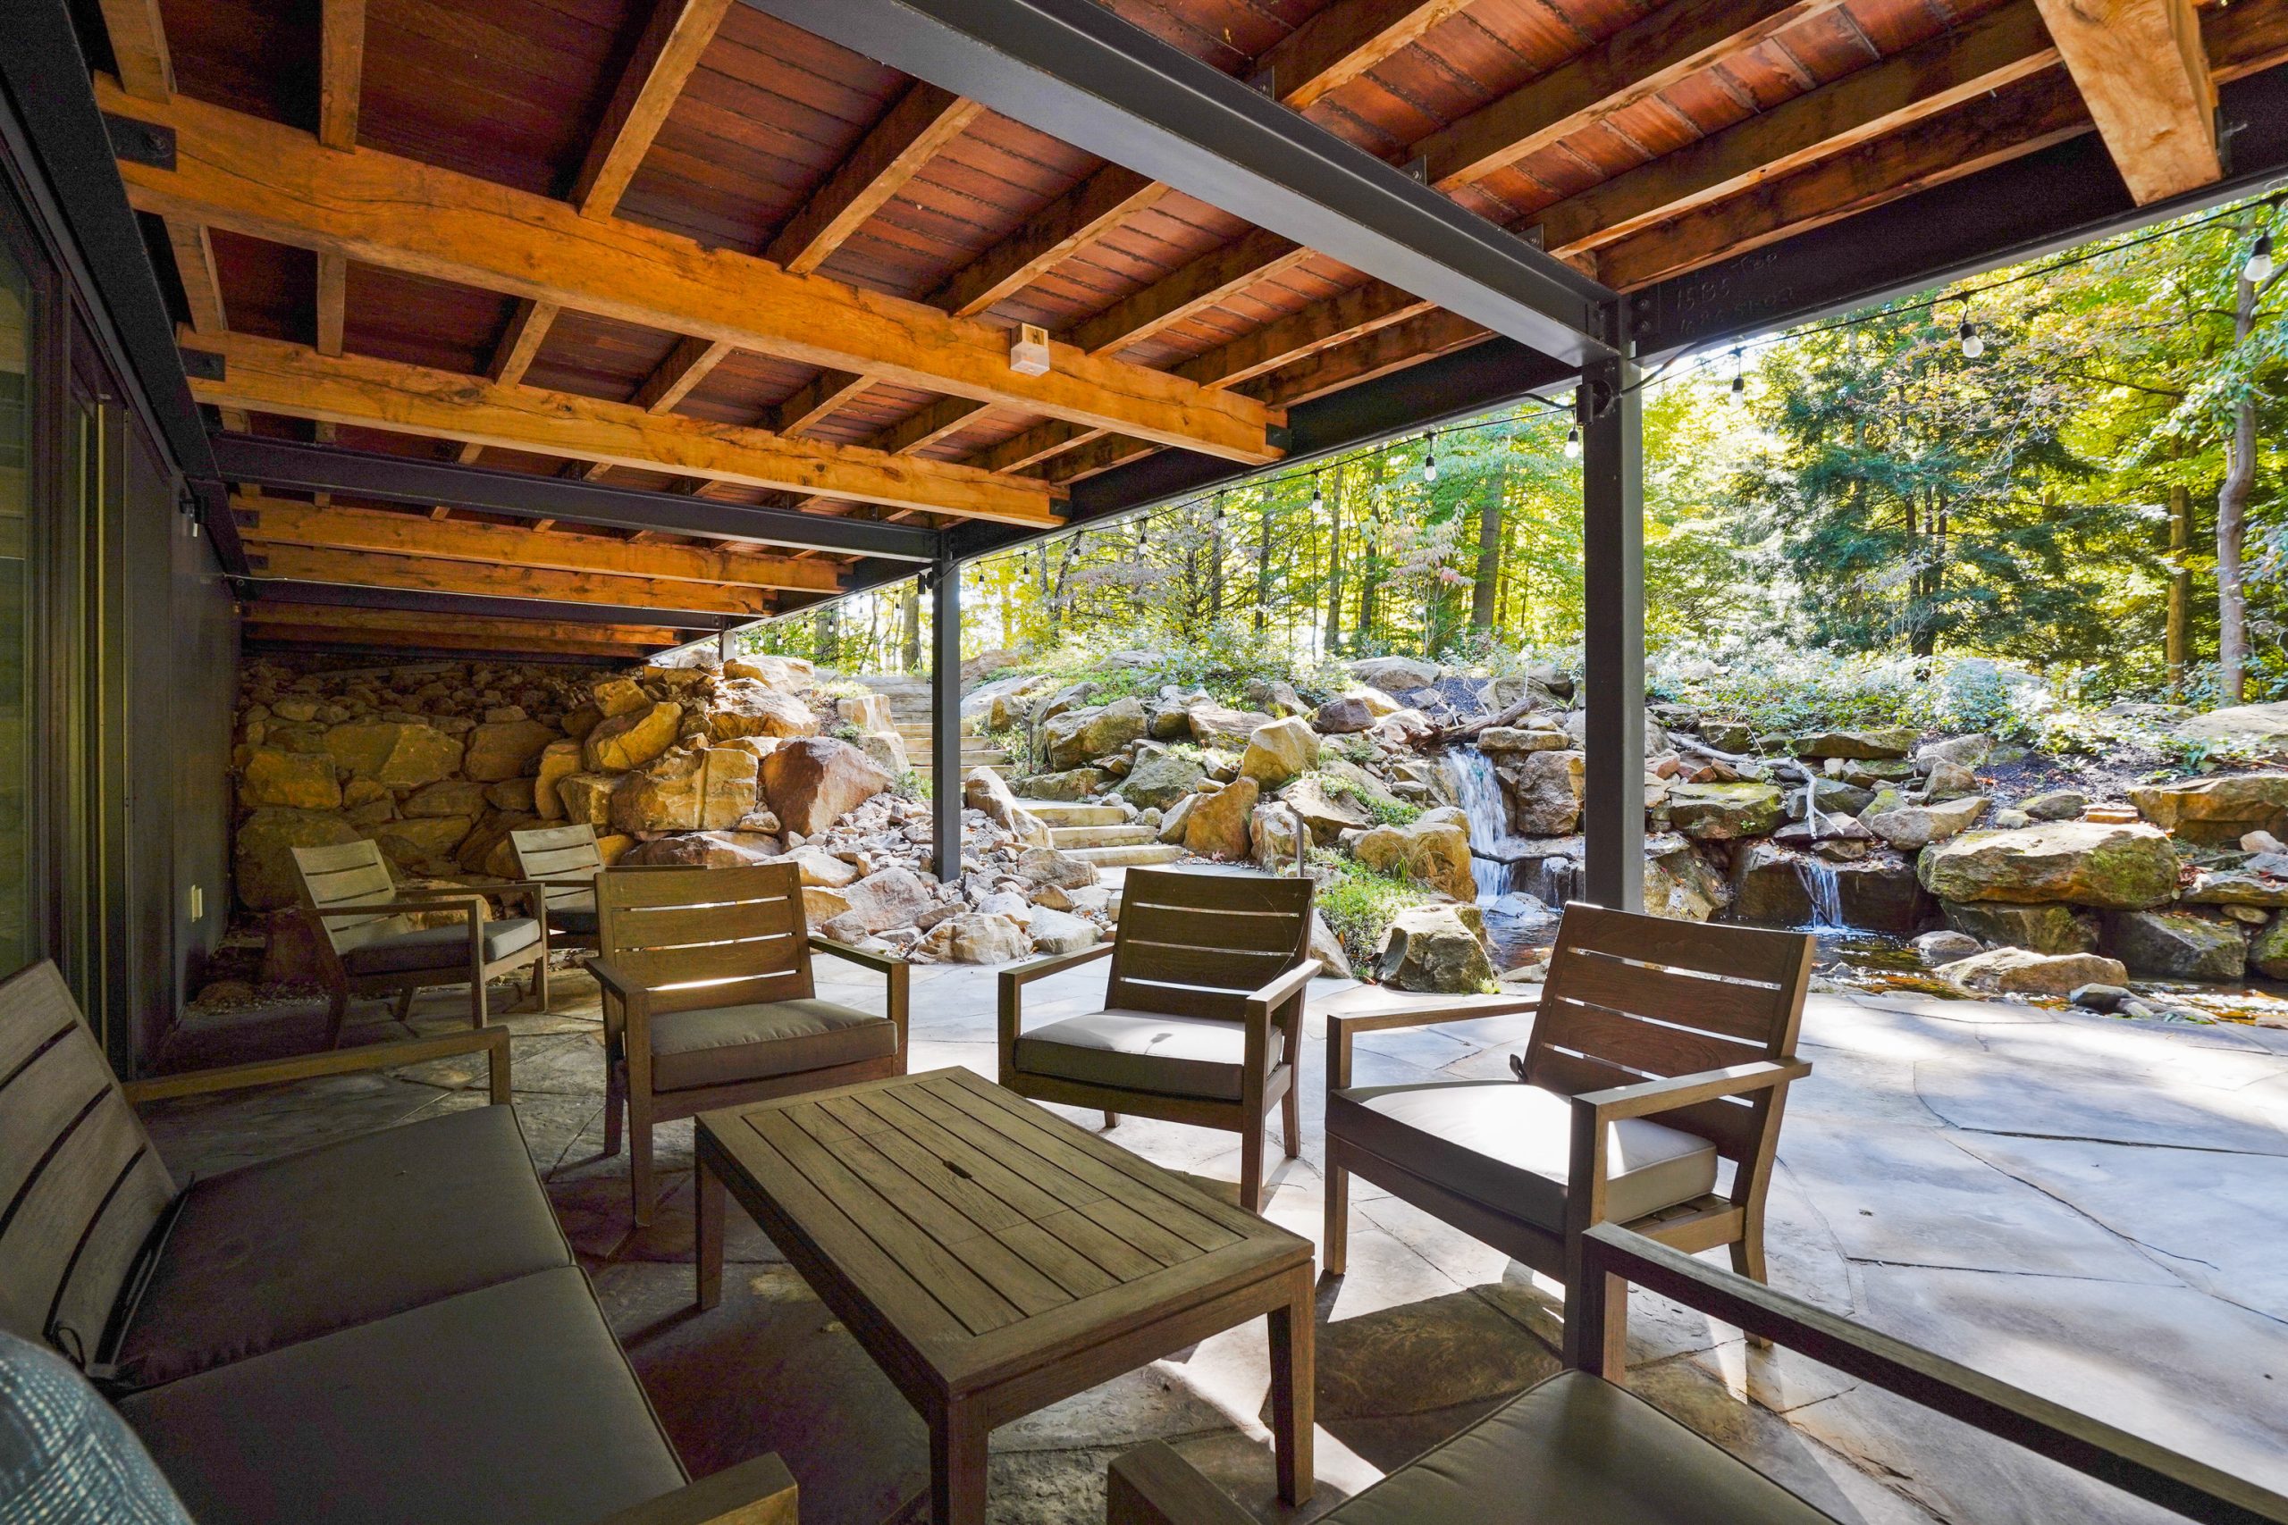
<svg viewBox="0 0 2288 1525">
<path fill-rule="evenodd" d="M 522 524 L 483 524 L 474 519 L 437 524 L 419 514 L 394 514 L 373 508 L 316 508 L 254 492 L 233 496 L 231 510 L 238 521 L 238 535 L 247 544 L 421 556 L 540 572 L 627 576 L 654 583 L 705 583 L 714 588 L 789 592 L 837 592 L 842 588 L 842 576 L 833 562 L 764 556 L 730 546 L 631 544 L 606 535 L 574 535 L 570 530 L 540 530 Z"/>
</svg>

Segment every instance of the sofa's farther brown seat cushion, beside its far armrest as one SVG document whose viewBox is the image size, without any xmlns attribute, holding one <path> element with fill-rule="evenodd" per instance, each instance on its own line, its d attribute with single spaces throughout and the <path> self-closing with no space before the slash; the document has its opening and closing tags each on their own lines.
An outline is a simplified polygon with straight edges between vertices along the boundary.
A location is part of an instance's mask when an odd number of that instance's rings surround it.
<svg viewBox="0 0 2288 1525">
<path fill-rule="evenodd" d="M 146 1388 L 567 1264 L 515 1109 L 471 1107 L 192 1182 L 117 1360 Z"/>
</svg>

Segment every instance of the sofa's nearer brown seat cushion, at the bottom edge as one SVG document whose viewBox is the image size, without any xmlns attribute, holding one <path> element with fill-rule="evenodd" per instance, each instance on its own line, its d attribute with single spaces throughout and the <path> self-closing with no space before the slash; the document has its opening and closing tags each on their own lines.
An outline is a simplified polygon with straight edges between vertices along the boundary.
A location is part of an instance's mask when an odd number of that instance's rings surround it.
<svg viewBox="0 0 2288 1525">
<path fill-rule="evenodd" d="M 119 1404 L 199 1525 L 563 1525 L 684 1482 L 577 1267 Z"/>
</svg>

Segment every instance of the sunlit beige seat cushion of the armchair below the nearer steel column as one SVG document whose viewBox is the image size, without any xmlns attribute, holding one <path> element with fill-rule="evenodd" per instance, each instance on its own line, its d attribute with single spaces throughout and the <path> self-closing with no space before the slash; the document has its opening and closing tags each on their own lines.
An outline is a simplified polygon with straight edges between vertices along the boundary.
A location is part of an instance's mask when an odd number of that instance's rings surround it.
<svg viewBox="0 0 2288 1525">
<path fill-rule="evenodd" d="M 1494 1212 L 1565 1228 L 1572 1102 L 1515 1079 L 1359 1086 L 1327 1097 L 1345 1139 Z M 1650 1118 L 1606 1132 L 1606 1216 L 1629 1223 L 1716 1189 L 1716 1145 Z"/>
</svg>

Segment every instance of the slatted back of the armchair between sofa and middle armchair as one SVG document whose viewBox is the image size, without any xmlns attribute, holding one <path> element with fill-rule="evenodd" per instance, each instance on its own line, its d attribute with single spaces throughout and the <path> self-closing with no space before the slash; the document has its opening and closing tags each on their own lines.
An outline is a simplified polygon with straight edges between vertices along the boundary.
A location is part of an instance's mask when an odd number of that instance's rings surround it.
<svg viewBox="0 0 2288 1525">
<path fill-rule="evenodd" d="M 595 908 L 604 960 L 652 988 L 654 1013 L 817 992 L 794 864 L 604 869 Z"/>
</svg>

